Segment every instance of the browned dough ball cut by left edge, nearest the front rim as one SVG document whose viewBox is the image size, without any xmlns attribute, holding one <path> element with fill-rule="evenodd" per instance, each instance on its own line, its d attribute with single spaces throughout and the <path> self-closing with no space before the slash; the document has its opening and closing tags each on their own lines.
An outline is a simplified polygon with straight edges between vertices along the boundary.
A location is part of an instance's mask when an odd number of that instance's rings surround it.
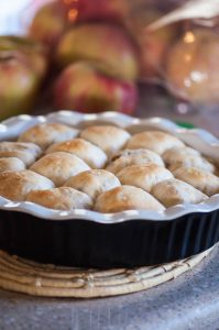
<svg viewBox="0 0 219 330">
<path fill-rule="evenodd" d="M 21 201 L 32 190 L 51 189 L 53 182 L 32 170 L 0 173 L 0 196 Z"/>
</svg>

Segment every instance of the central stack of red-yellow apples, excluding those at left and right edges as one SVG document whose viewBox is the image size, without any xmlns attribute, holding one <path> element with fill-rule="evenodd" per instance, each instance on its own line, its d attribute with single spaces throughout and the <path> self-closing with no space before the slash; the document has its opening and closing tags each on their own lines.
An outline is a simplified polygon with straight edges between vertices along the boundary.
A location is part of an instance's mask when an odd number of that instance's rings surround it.
<svg viewBox="0 0 219 330">
<path fill-rule="evenodd" d="M 35 15 L 30 35 L 47 45 L 58 68 L 57 109 L 133 113 L 139 52 L 124 26 L 127 1 L 55 1 Z"/>
</svg>

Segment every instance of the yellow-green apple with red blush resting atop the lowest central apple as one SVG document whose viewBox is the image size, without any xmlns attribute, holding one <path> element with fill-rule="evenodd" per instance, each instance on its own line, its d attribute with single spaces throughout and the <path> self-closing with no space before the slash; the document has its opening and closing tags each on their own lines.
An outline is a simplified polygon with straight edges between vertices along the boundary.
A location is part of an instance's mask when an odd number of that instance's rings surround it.
<svg viewBox="0 0 219 330">
<path fill-rule="evenodd" d="M 122 28 L 108 23 L 85 23 L 72 28 L 61 38 L 56 58 L 61 66 L 77 61 L 98 63 L 107 75 L 135 79 L 138 51 Z"/>
</svg>

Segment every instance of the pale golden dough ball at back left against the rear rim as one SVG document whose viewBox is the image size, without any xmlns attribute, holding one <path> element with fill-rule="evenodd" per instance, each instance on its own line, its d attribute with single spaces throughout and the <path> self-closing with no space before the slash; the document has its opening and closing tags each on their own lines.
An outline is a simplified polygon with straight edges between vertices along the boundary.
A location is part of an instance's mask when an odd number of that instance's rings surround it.
<svg viewBox="0 0 219 330">
<path fill-rule="evenodd" d="M 19 141 L 33 142 L 46 148 L 53 143 L 70 140 L 77 135 L 78 130 L 61 123 L 40 123 L 23 132 Z"/>
</svg>

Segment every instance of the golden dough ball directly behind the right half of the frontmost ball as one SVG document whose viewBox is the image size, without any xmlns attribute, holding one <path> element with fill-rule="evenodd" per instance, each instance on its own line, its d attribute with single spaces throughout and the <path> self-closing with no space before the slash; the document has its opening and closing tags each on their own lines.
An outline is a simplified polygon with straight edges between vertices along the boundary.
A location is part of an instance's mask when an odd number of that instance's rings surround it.
<svg viewBox="0 0 219 330">
<path fill-rule="evenodd" d="M 147 193 L 157 183 L 173 178 L 173 174 L 168 169 L 152 163 L 128 166 L 119 172 L 117 176 L 121 184 L 135 186 Z"/>
</svg>

